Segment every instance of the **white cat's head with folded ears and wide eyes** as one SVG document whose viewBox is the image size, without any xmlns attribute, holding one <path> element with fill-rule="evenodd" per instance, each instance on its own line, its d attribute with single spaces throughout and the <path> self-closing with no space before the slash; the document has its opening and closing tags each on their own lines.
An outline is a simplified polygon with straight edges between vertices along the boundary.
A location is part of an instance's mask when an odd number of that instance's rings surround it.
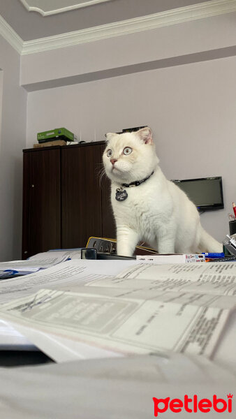
<svg viewBox="0 0 236 419">
<path fill-rule="evenodd" d="M 132 133 L 108 133 L 106 139 L 103 165 L 112 181 L 130 183 L 145 179 L 158 165 L 150 128 Z"/>
</svg>

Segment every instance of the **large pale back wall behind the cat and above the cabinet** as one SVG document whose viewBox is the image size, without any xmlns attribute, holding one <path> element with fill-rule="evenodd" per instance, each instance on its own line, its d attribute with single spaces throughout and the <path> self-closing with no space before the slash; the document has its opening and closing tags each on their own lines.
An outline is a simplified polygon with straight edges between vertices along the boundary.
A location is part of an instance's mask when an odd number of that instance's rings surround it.
<svg viewBox="0 0 236 419">
<path fill-rule="evenodd" d="M 82 140 L 148 124 L 169 179 L 223 177 L 225 210 L 202 214 L 218 240 L 228 233 L 236 200 L 236 58 L 144 71 L 29 93 L 27 147 L 36 133 L 58 126 Z"/>
</svg>

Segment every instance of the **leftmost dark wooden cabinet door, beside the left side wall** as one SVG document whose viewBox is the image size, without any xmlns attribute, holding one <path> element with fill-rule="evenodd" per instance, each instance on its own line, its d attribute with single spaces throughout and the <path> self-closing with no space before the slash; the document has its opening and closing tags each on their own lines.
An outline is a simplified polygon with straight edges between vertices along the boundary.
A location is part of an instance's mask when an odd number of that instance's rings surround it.
<svg viewBox="0 0 236 419">
<path fill-rule="evenodd" d="M 61 247 L 60 149 L 24 152 L 22 258 Z"/>
</svg>

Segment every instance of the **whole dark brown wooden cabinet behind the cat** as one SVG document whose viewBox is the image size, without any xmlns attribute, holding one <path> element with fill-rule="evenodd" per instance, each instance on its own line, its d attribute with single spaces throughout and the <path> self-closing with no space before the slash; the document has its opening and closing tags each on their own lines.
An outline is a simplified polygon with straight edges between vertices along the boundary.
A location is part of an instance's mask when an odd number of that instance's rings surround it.
<svg viewBox="0 0 236 419">
<path fill-rule="evenodd" d="M 104 142 L 23 150 L 22 258 L 115 237 Z"/>
</svg>

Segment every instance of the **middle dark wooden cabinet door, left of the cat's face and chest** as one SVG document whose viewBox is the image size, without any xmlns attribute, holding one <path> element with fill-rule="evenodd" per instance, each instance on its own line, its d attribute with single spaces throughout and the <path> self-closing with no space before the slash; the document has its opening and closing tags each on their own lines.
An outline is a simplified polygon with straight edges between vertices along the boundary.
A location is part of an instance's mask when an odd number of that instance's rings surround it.
<svg viewBox="0 0 236 419">
<path fill-rule="evenodd" d="M 102 235 L 100 145 L 61 149 L 62 247 L 85 247 Z"/>
</svg>

